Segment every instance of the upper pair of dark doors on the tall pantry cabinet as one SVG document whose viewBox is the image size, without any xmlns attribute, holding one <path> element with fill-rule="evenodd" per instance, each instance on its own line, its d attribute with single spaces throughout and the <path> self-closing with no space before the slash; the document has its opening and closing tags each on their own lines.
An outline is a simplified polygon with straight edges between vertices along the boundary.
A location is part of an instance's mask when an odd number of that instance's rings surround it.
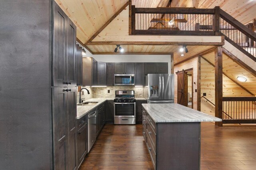
<svg viewBox="0 0 256 170">
<path fill-rule="evenodd" d="M 53 86 L 76 85 L 76 26 L 54 3 Z"/>
</svg>

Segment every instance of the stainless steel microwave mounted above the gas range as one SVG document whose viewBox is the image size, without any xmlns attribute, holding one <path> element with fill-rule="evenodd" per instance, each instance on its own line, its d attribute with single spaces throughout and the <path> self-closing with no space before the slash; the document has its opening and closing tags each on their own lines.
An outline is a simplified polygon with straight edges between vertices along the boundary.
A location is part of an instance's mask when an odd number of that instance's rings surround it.
<svg viewBox="0 0 256 170">
<path fill-rule="evenodd" d="M 115 85 L 134 85 L 134 74 L 115 74 Z"/>
</svg>

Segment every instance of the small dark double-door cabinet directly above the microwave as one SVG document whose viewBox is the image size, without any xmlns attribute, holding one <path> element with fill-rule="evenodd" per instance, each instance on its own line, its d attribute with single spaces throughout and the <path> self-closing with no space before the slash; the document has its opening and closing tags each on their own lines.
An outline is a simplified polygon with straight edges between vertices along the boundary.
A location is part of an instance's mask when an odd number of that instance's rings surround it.
<svg viewBox="0 0 256 170">
<path fill-rule="evenodd" d="M 134 74 L 134 63 L 115 63 L 115 74 Z"/>
</svg>

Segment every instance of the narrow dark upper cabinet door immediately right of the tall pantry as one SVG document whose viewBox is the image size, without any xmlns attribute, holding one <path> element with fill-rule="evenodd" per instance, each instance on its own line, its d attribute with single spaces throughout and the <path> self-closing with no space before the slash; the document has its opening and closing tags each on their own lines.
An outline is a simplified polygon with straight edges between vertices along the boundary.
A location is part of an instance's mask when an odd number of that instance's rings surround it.
<svg viewBox="0 0 256 170">
<path fill-rule="evenodd" d="M 76 45 L 76 84 L 78 86 L 82 86 L 83 79 L 82 79 L 82 70 L 83 70 L 83 63 L 82 63 L 82 48 Z"/>
</svg>

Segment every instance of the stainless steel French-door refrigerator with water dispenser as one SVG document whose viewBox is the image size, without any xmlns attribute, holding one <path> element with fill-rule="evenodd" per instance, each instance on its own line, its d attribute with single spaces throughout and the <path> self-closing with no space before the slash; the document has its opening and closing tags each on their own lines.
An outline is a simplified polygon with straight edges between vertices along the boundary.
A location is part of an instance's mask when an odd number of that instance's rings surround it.
<svg viewBox="0 0 256 170">
<path fill-rule="evenodd" d="M 174 103 L 174 74 L 148 74 L 146 87 L 148 103 Z"/>
</svg>

